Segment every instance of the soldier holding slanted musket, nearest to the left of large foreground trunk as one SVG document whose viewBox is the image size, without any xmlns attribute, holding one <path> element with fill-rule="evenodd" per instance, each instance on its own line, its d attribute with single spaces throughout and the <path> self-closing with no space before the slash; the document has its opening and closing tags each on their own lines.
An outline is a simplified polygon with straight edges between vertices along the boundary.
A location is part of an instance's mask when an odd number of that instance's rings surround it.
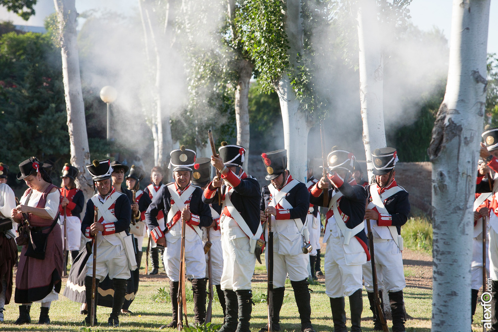
<svg viewBox="0 0 498 332">
<path fill-rule="evenodd" d="M 403 289 L 406 286 L 403 273 L 403 239 L 401 226 L 408 220 L 410 202 L 408 193 L 397 185 L 394 166 L 398 161 L 396 149 L 384 147 L 372 153 L 375 183 L 369 186 L 369 205 L 365 219 L 371 221 L 375 246 L 375 269 L 377 282 L 388 292 L 392 313 L 392 332 L 405 331 Z M 382 331 L 378 313 L 373 302 L 372 264 L 363 265 L 363 279 L 374 318 L 373 331 Z"/>
</svg>

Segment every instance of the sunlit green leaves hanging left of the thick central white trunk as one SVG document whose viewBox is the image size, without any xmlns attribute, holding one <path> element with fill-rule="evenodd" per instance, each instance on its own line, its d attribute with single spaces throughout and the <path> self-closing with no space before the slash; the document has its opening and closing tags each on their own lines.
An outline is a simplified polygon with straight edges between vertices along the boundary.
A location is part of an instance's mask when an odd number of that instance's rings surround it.
<svg viewBox="0 0 498 332">
<path fill-rule="evenodd" d="M 248 0 L 238 11 L 237 35 L 257 70 L 262 91 L 274 91 L 289 67 L 288 38 L 284 30 L 285 4 L 280 0 Z"/>
</svg>

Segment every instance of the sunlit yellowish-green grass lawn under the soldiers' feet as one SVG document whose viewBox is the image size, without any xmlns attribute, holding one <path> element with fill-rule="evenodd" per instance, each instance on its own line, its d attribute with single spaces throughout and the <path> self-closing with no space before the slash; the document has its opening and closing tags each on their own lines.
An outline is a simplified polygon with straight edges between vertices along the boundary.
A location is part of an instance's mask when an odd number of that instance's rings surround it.
<svg viewBox="0 0 498 332">
<path fill-rule="evenodd" d="M 323 254 L 322 254 L 323 255 Z M 263 261 L 264 264 L 264 261 Z M 322 259 L 323 264 L 323 259 Z M 266 293 L 265 284 L 265 267 L 256 263 L 256 274 L 253 282 L 253 300 L 255 306 L 252 311 L 251 331 L 258 331 L 266 324 L 267 308 L 266 303 L 261 301 Z M 134 313 L 131 316 L 121 316 L 120 331 L 158 331 L 159 327 L 171 321 L 171 305 L 169 300 L 161 301 L 159 288 L 166 287 L 169 290 L 168 279 L 164 271 L 157 276 L 145 275 L 145 255 L 143 255 L 142 268 L 140 270 L 140 288 L 138 294 L 130 306 L 130 310 Z M 323 269 L 322 269 L 323 270 Z M 414 274 L 410 269 L 406 270 L 407 284 L 405 288 L 405 305 L 408 314 L 413 317 L 413 320 L 406 322 L 406 331 L 430 331 L 431 318 L 431 287 L 417 287 L 414 283 L 409 283 L 408 278 Z M 334 331 L 332 323 L 332 315 L 330 312 L 329 298 L 325 295 L 324 277 L 320 278 L 320 283 L 310 285 L 311 306 L 312 306 L 312 323 L 316 331 Z M 65 280 L 63 281 L 65 285 Z M 294 300 L 294 294 L 290 287 L 290 282 L 287 281 L 287 290 L 285 292 L 284 304 L 281 310 L 281 327 L 282 331 L 300 331 L 299 315 Z M 188 283 L 187 288 L 190 288 Z M 62 293 L 62 291 L 61 291 Z M 216 294 L 216 292 L 215 292 Z M 469 294 L 470 296 L 470 294 Z M 193 304 L 188 303 L 189 322 L 193 322 Z M 33 324 L 16 326 L 13 325 L 18 316 L 17 304 L 12 302 L 5 307 L 5 321 L 0 324 L 0 331 L 115 331 L 116 329 L 107 326 L 107 319 L 111 312 L 111 308 L 98 308 L 97 318 L 101 326 L 94 328 L 80 327 L 79 323 L 84 317 L 80 315 L 80 304 L 69 301 L 62 295 L 58 301 L 52 303 L 50 308 L 51 324 L 48 326 L 38 326 L 34 323 L 38 322 L 40 313 L 40 305 L 33 304 L 31 309 L 31 320 Z M 480 309 L 480 308 L 479 308 Z M 478 309 L 478 312 L 479 312 Z M 481 310 L 482 312 L 482 310 Z M 350 327 L 350 310 L 349 301 L 346 300 L 346 316 L 348 317 L 347 326 Z M 369 310 L 369 303 L 366 292 L 364 291 L 364 311 L 363 311 L 362 329 L 363 331 L 373 331 L 372 313 Z M 482 313 L 481 313 L 482 317 Z M 476 314 L 475 320 L 480 320 Z M 222 310 L 215 299 L 213 304 L 213 323 L 222 324 Z M 390 326 L 388 321 L 388 326 Z M 478 325 L 474 326 L 475 331 L 478 331 Z M 165 330 L 168 331 L 168 330 Z M 173 329 L 169 329 L 173 331 Z"/>
</svg>

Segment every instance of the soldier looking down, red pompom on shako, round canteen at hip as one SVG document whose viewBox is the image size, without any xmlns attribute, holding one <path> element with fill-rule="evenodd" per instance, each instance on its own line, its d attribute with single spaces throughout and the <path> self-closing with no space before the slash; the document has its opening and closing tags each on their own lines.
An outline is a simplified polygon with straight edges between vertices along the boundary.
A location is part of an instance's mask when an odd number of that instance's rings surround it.
<svg viewBox="0 0 498 332">
<path fill-rule="evenodd" d="M 270 217 L 273 230 L 273 321 L 272 331 L 280 331 L 280 309 L 289 276 L 294 289 L 302 332 L 314 332 L 311 325 L 310 292 L 308 290 L 309 231 L 306 225 L 309 192 L 306 185 L 293 179 L 287 168 L 287 150 L 261 155 L 266 166 L 265 179 L 270 197 L 260 212 L 261 221 Z M 264 201 L 265 194 L 262 195 Z M 267 217 L 268 216 L 268 217 Z M 303 251 L 306 248 L 306 252 Z M 265 252 L 266 263 L 268 251 Z M 259 330 L 268 331 L 268 326 Z"/>
</svg>

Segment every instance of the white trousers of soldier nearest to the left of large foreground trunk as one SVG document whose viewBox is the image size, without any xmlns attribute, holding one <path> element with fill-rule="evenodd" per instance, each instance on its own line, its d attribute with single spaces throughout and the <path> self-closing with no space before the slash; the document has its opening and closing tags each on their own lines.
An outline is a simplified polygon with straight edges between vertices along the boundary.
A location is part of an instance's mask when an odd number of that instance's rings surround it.
<svg viewBox="0 0 498 332">
<path fill-rule="evenodd" d="M 403 258 L 396 243 L 390 239 L 374 239 L 375 269 L 377 285 L 388 292 L 397 292 L 406 287 L 403 272 Z M 363 264 L 363 280 L 365 289 L 373 292 L 372 263 Z"/>
</svg>

